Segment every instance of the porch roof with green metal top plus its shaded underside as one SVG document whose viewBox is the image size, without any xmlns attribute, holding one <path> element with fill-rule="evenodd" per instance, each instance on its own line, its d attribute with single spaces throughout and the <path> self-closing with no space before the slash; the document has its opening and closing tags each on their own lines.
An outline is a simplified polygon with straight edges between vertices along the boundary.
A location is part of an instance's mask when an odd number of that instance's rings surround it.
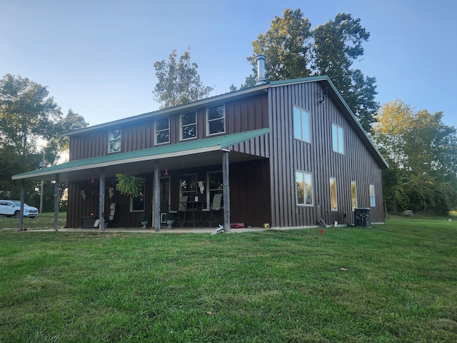
<svg viewBox="0 0 457 343">
<path fill-rule="evenodd" d="M 228 151 L 227 147 L 268 132 L 269 129 L 258 129 L 238 134 L 156 146 L 150 149 L 108 154 L 91 159 L 69 161 L 49 168 L 17 174 L 11 179 L 52 181 L 56 179 L 56 174 L 59 174 L 61 182 L 79 181 L 99 177 L 101 168 L 104 169 L 106 177 L 114 177 L 115 174 L 132 171 L 139 174 L 152 173 L 154 171 L 154 161 L 157 160 L 160 161 L 161 169 L 167 168 L 169 170 L 221 164 L 224 151 Z M 261 156 L 241 154 L 236 151 L 231 151 L 230 154 L 231 163 L 261 158 Z"/>
</svg>

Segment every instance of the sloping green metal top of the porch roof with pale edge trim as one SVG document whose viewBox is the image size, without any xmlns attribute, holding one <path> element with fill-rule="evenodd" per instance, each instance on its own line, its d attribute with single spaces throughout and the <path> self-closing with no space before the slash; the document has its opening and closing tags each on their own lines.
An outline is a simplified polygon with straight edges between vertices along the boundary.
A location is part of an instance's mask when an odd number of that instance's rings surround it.
<svg viewBox="0 0 457 343">
<path fill-rule="evenodd" d="M 56 174 L 64 170 L 69 169 L 85 169 L 84 167 L 90 168 L 99 164 L 116 164 L 116 162 L 129 161 L 132 159 L 144 159 L 153 156 L 179 154 L 184 151 L 203 151 L 204 149 L 214 148 L 213 150 L 225 149 L 233 144 L 247 141 L 248 139 L 267 134 L 270 129 L 258 129 L 252 131 L 244 131 L 236 134 L 226 134 L 223 136 L 215 136 L 205 139 L 194 139 L 193 141 L 185 141 L 176 144 L 166 144 L 162 146 L 154 146 L 149 149 L 141 149 L 129 152 L 121 152 L 118 154 L 107 154 L 99 157 L 92 157 L 90 159 L 77 159 L 69 161 L 63 164 L 57 164 L 56 166 L 49 166 L 44 169 L 36 169 L 31 172 L 17 174 L 11 177 L 11 179 L 27 179 L 38 174 Z"/>
</svg>

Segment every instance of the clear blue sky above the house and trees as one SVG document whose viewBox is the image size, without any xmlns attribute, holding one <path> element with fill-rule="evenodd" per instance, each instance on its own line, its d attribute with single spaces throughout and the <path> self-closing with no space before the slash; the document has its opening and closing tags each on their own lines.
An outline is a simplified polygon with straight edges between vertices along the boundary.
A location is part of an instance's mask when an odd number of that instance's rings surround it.
<svg viewBox="0 0 457 343">
<path fill-rule="evenodd" d="M 274 16 L 301 9 L 311 27 L 338 12 L 371 36 L 354 66 L 375 76 L 377 101 L 443 111 L 457 128 L 457 2 L 450 0 L 0 0 L 0 76 L 48 86 L 64 114 L 89 124 L 159 109 L 154 62 L 191 47 L 211 95 L 239 86 L 252 41 Z"/>
</svg>

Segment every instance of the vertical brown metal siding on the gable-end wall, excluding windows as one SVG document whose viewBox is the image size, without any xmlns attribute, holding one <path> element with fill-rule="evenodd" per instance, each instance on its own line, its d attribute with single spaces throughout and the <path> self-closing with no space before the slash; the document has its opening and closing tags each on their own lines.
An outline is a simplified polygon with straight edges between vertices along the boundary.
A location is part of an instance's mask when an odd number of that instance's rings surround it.
<svg viewBox="0 0 457 343">
<path fill-rule="evenodd" d="M 318 83 L 271 88 L 271 222 L 277 227 L 353 223 L 351 181 L 357 182 L 358 207 L 370 207 L 368 185 L 374 184 L 372 222 L 383 222 L 381 167 L 332 101 L 318 103 Z M 311 143 L 293 139 L 293 105 L 310 112 Z M 331 125 L 343 127 L 345 154 L 332 150 Z M 313 178 L 313 206 L 296 204 L 296 171 Z M 336 177 L 338 211 L 330 209 L 329 179 Z"/>
</svg>

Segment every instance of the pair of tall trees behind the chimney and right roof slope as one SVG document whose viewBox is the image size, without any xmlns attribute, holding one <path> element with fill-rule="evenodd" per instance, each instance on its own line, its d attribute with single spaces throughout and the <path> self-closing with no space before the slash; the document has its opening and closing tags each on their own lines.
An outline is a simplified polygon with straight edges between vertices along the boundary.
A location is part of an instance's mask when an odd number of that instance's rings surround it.
<svg viewBox="0 0 457 343">
<path fill-rule="evenodd" d="M 266 34 L 259 34 L 252 42 L 253 55 L 248 61 L 255 74 L 256 55 L 266 56 L 267 81 L 328 75 L 363 128 L 371 131 L 379 107 L 376 79 L 351 69 L 353 61 L 363 55 L 362 44 L 369 36 L 360 19 L 353 19 L 351 14 L 337 14 L 334 20 L 311 30 L 300 9 L 285 9 L 282 17 L 273 19 Z M 251 75 L 241 88 L 254 84 Z"/>
</svg>

